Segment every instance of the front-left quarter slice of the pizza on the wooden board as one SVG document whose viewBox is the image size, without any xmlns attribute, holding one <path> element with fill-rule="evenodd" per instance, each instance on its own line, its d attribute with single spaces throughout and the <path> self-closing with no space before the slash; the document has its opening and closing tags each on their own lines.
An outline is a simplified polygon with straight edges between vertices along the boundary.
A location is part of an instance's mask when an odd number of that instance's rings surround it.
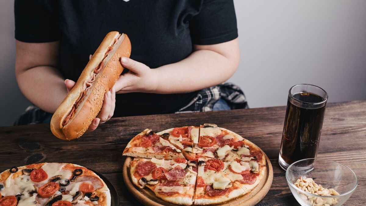
<svg viewBox="0 0 366 206">
<path fill-rule="evenodd" d="M 197 172 L 186 159 L 143 159 L 131 161 L 132 182 L 147 187 L 164 201 L 192 205 Z"/>
</svg>

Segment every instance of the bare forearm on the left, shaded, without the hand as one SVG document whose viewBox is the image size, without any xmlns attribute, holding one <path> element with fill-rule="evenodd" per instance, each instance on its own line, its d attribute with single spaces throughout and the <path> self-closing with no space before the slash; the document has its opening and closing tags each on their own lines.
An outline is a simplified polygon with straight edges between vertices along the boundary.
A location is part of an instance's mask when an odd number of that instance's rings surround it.
<svg viewBox="0 0 366 206">
<path fill-rule="evenodd" d="M 38 66 L 16 74 L 20 91 L 30 102 L 49 113 L 56 111 L 67 95 L 61 73 L 54 67 Z"/>
</svg>

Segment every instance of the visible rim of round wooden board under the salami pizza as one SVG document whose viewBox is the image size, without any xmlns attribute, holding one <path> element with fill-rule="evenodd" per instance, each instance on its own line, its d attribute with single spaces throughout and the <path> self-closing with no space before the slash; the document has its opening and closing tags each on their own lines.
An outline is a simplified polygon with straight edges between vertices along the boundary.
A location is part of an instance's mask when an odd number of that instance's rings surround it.
<svg viewBox="0 0 366 206">
<path fill-rule="evenodd" d="M 272 185 L 273 180 L 273 168 L 271 165 L 271 162 L 269 161 L 266 154 L 264 154 L 266 157 L 266 176 L 264 181 L 261 181 L 253 191 L 251 191 L 249 194 L 240 196 L 236 199 L 232 199 L 231 201 L 221 203 L 219 205 L 223 206 L 234 206 L 234 205 L 243 205 L 243 206 L 253 206 L 257 204 L 261 199 L 264 198 L 264 196 L 269 191 L 269 188 Z M 123 165 L 123 180 L 126 184 L 127 189 L 132 193 L 132 195 L 135 196 L 135 198 L 141 202 L 143 205 L 151 205 L 151 206 L 163 206 L 163 205 L 171 205 L 175 206 L 175 204 L 165 202 L 162 199 L 155 196 L 154 192 L 149 190 L 149 188 L 138 188 L 136 187 L 132 181 L 130 176 L 130 162 L 132 161 L 132 157 L 127 157 L 126 161 L 124 161 Z"/>
</svg>

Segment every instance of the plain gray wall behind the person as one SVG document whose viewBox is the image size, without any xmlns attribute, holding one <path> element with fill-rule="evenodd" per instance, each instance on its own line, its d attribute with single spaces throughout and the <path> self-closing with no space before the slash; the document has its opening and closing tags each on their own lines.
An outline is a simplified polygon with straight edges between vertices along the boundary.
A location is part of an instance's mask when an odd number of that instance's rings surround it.
<svg viewBox="0 0 366 206">
<path fill-rule="evenodd" d="M 133 1 L 133 0 L 132 0 Z M 366 1 L 234 0 L 241 60 L 229 80 L 249 106 L 285 105 L 288 89 L 324 88 L 329 102 L 366 100 Z M 0 0 L 0 126 L 30 105 L 14 74 L 13 1 Z"/>
</svg>

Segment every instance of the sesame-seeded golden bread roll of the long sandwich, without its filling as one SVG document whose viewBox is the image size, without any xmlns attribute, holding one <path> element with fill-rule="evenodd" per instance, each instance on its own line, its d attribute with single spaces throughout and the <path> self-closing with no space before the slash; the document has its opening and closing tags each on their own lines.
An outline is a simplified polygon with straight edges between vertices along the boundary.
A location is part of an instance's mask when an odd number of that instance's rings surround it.
<svg viewBox="0 0 366 206">
<path fill-rule="evenodd" d="M 118 35 L 118 32 L 109 32 L 107 36 L 105 36 L 96 52 L 93 54 L 93 57 L 82 71 L 75 86 L 67 94 L 66 98 L 53 114 L 51 119 L 51 131 L 59 139 L 72 140 L 85 133 L 91 124 L 91 121 L 98 115 L 102 107 L 104 94 L 113 87 L 122 73 L 124 68 L 120 63 L 120 58 L 122 56 L 130 57 L 131 54 L 131 43 L 126 34 L 122 34 L 120 37 L 119 41 L 122 41 L 122 43 L 116 49 L 111 59 L 104 64 L 104 68 L 97 74 L 96 80 L 89 89 L 90 91 L 86 94 L 87 96 L 82 103 L 79 104 L 78 108 L 76 108 L 74 117 L 70 119 L 68 124 L 65 126 L 62 125 L 62 122 L 70 113 L 73 104 L 84 90 L 85 81 L 91 77 L 94 69 L 104 58 L 108 47 L 113 44 Z"/>
</svg>

